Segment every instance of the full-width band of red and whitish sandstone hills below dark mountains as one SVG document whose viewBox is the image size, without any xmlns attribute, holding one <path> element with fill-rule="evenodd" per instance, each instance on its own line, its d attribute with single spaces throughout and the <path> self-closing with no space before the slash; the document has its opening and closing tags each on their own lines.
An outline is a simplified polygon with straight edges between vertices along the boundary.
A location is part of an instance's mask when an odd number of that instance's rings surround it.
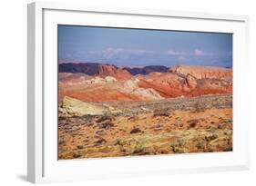
<svg viewBox="0 0 256 186">
<path fill-rule="evenodd" d="M 179 96 L 232 93 L 232 70 L 220 67 L 177 66 L 169 73 L 132 76 L 111 64 L 98 74 L 59 73 L 59 97 L 85 102 L 148 101 Z"/>
</svg>

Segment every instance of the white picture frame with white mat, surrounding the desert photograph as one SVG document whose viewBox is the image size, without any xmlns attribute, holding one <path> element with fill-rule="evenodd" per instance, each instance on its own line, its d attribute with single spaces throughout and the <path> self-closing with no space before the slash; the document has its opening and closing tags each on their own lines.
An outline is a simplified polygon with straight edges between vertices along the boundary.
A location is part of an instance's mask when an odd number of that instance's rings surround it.
<svg viewBox="0 0 256 186">
<path fill-rule="evenodd" d="M 247 114 L 248 105 L 241 99 L 246 96 L 243 82 L 246 81 L 247 67 L 243 64 L 248 63 L 249 56 L 248 16 L 89 7 L 83 4 L 49 2 L 29 4 L 27 10 L 28 181 L 34 183 L 83 181 L 249 169 L 249 121 L 248 117 L 244 117 Z M 233 152 L 57 161 L 55 115 L 57 62 L 54 63 L 56 60 L 57 24 L 232 33 L 234 35 Z M 135 165 L 137 165 L 136 168 Z"/>
</svg>

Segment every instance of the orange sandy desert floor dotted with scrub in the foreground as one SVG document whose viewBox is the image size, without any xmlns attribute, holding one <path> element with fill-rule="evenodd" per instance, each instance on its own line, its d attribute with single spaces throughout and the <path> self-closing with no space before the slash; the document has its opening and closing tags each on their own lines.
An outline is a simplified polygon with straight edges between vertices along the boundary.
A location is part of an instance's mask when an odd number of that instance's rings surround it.
<svg viewBox="0 0 256 186">
<path fill-rule="evenodd" d="M 59 160 L 232 151 L 231 94 L 106 104 L 123 112 L 59 117 Z"/>
</svg>

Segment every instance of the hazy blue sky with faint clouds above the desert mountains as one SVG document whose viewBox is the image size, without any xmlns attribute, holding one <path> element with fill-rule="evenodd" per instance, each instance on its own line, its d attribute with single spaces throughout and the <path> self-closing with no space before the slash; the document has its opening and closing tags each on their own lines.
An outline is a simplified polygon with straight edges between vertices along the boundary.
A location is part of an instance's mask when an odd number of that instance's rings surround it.
<svg viewBox="0 0 256 186">
<path fill-rule="evenodd" d="M 58 59 L 118 66 L 232 66 L 232 34 L 58 25 Z"/>
</svg>

